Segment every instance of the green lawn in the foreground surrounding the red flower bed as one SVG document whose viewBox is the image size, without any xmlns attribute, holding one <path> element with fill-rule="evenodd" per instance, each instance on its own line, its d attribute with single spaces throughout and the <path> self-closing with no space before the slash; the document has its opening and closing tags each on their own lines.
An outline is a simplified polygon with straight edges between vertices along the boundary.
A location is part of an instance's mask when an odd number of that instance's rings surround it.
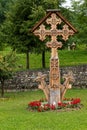
<svg viewBox="0 0 87 130">
<path fill-rule="evenodd" d="M 71 89 L 66 97 L 80 97 L 80 110 L 30 112 L 27 104 L 44 97 L 42 91 L 5 93 L 0 99 L 0 130 L 87 130 L 87 90 Z"/>
</svg>

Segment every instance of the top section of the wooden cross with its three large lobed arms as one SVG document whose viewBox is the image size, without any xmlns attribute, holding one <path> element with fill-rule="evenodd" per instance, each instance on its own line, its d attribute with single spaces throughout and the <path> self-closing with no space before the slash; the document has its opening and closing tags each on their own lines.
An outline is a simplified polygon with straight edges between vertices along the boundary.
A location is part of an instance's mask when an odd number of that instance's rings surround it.
<svg viewBox="0 0 87 130">
<path fill-rule="evenodd" d="M 69 29 L 66 24 L 63 25 L 62 29 L 58 29 L 57 26 L 60 25 L 61 22 L 62 20 L 58 18 L 55 13 L 52 13 L 51 18 L 46 20 L 46 23 L 51 25 L 51 29 L 47 30 L 45 25 L 41 24 L 39 29 L 34 31 L 34 34 L 38 35 L 42 41 L 46 39 L 46 36 L 51 36 L 51 43 L 58 43 L 57 36 L 62 36 L 62 39 L 66 41 L 70 35 L 74 34 L 74 31 Z"/>
</svg>

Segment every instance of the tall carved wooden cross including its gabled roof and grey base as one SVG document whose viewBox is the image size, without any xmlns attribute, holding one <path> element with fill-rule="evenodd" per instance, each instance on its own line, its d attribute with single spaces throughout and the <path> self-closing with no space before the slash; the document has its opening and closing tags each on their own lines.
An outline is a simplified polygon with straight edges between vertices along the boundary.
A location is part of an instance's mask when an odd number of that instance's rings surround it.
<svg viewBox="0 0 87 130">
<path fill-rule="evenodd" d="M 46 29 L 46 24 L 50 29 Z M 60 25 L 62 28 L 60 28 Z M 62 36 L 62 39 L 66 41 L 68 37 L 77 32 L 77 30 L 58 10 L 48 10 L 47 15 L 34 26 L 32 32 L 39 36 L 42 41 L 46 39 L 46 36 L 51 37 L 51 41 L 46 44 L 47 47 L 51 48 L 49 85 L 47 86 L 50 94 L 47 94 L 44 90 L 43 91 L 50 104 L 57 105 L 57 103 L 61 101 L 62 86 L 60 83 L 59 58 L 57 53 L 57 49 L 62 47 L 62 43 L 58 41 L 58 37 Z M 41 82 L 40 88 L 45 88 L 43 82 Z M 65 91 L 62 93 L 64 94 Z"/>
</svg>

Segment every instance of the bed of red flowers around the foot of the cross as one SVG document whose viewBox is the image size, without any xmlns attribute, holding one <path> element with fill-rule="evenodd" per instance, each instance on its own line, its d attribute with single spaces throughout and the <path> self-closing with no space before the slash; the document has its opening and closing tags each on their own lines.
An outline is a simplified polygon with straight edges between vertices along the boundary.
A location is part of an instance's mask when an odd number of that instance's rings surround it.
<svg viewBox="0 0 87 130">
<path fill-rule="evenodd" d="M 29 102 L 28 108 L 31 111 L 44 112 L 49 110 L 68 110 L 68 109 L 77 109 L 80 108 L 81 100 L 80 98 L 65 98 L 63 102 L 58 102 L 57 107 L 55 105 L 50 105 L 46 100 L 32 101 Z"/>
</svg>

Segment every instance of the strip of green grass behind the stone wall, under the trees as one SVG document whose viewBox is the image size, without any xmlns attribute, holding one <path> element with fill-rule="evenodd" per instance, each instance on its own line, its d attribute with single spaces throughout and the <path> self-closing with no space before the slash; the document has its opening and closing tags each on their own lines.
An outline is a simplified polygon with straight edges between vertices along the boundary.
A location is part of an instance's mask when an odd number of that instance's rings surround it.
<svg viewBox="0 0 87 130">
<path fill-rule="evenodd" d="M 8 47 L 4 51 L 0 51 L 0 54 L 6 55 L 11 49 Z M 59 50 L 59 61 L 60 66 L 74 66 L 87 64 L 87 50 L 86 49 L 77 49 L 77 50 Z M 25 54 L 16 54 L 17 56 L 17 70 L 26 69 L 26 55 Z M 49 68 L 50 62 L 50 52 L 46 52 L 46 68 Z M 42 68 L 41 63 L 41 54 L 30 53 L 30 69 L 39 69 Z"/>
</svg>

